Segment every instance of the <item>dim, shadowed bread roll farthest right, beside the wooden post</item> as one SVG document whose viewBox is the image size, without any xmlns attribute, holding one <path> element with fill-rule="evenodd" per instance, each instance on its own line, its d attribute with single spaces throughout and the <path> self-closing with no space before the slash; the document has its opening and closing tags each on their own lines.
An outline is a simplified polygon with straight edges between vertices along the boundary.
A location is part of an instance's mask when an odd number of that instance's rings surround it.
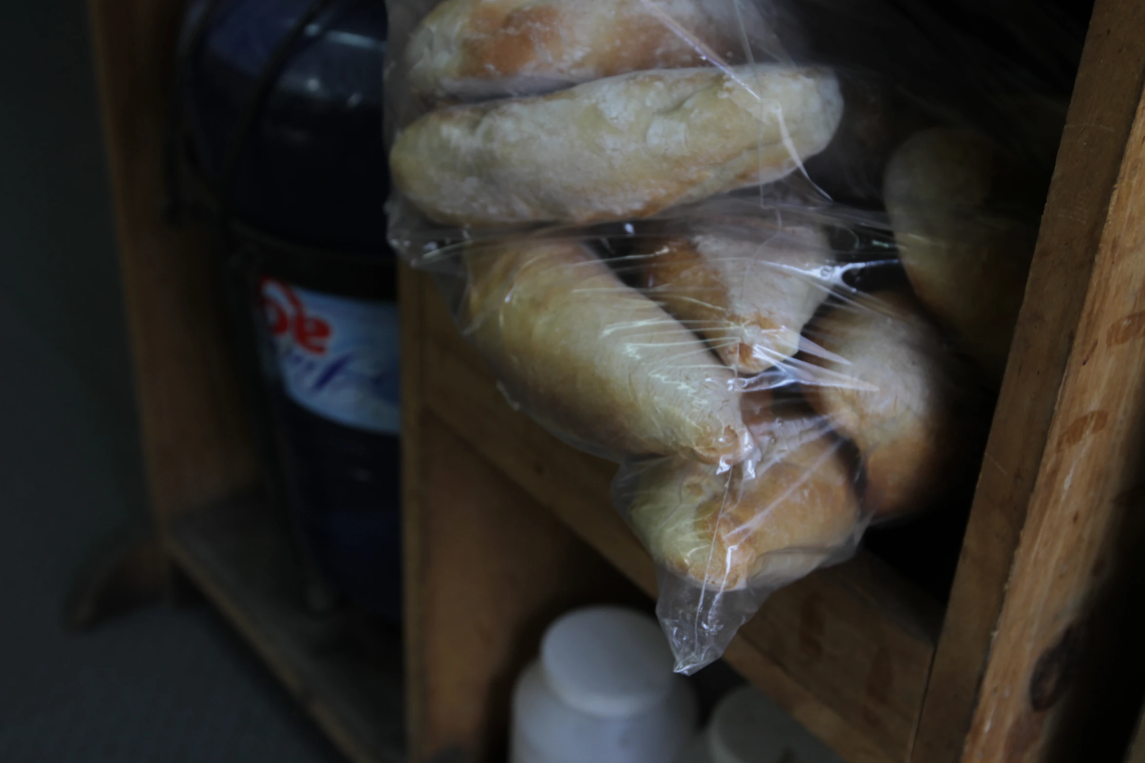
<svg viewBox="0 0 1145 763">
<path fill-rule="evenodd" d="M 1044 202 L 1028 176 L 984 137 L 947 128 L 918 133 L 886 168 L 886 209 L 910 285 L 994 382 L 1037 241 L 1027 218 Z"/>
</svg>

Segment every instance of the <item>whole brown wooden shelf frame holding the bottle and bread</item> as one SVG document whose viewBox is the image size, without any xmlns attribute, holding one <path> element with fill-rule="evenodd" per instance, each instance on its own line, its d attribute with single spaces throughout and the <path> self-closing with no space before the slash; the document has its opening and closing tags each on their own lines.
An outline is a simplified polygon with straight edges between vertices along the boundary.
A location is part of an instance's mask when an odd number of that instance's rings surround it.
<svg viewBox="0 0 1145 763">
<path fill-rule="evenodd" d="M 89 0 L 156 526 L 352 758 L 396 760 L 393 697 L 354 677 L 393 666 L 316 646 L 361 639 L 284 604 L 258 572 L 293 574 L 282 541 L 236 499 L 255 459 L 210 243 L 160 214 L 180 7 Z M 1120 627 L 1145 516 L 1143 84 L 1145 3 L 1098 0 L 949 599 L 861 553 L 774 595 L 728 649 L 852 763 L 1123 758 L 1140 704 L 1119 702 L 1145 685 Z M 505 405 L 424 276 L 403 273 L 402 317 L 408 760 L 483 763 L 544 625 L 641 601 L 655 577 L 611 509 L 614 467 Z M 243 537 L 269 549 L 254 571 Z M 1098 686 L 1108 701 L 1088 702 Z"/>
</svg>

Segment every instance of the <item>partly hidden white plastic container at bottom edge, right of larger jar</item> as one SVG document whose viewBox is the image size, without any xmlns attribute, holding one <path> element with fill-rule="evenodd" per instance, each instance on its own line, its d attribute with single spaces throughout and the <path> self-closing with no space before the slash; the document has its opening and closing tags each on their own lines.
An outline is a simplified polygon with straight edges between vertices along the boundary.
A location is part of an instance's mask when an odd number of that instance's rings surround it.
<svg viewBox="0 0 1145 763">
<path fill-rule="evenodd" d="M 729 693 L 679 763 L 844 763 L 753 686 Z"/>
</svg>

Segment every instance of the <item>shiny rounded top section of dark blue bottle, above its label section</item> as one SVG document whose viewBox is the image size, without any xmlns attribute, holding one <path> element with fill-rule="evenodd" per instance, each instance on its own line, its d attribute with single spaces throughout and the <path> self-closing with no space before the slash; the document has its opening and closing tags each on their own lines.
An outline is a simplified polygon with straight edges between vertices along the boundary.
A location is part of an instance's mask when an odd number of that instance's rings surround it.
<svg viewBox="0 0 1145 763">
<path fill-rule="evenodd" d="M 219 182 L 230 143 L 276 47 L 314 0 L 198 0 L 210 13 L 187 77 L 188 122 L 204 174 Z M 389 256 L 382 140 L 386 10 L 332 0 L 290 46 L 230 180 L 235 214 L 295 244 Z M 191 27 L 188 24 L 188 27 Z"/>
</svg>

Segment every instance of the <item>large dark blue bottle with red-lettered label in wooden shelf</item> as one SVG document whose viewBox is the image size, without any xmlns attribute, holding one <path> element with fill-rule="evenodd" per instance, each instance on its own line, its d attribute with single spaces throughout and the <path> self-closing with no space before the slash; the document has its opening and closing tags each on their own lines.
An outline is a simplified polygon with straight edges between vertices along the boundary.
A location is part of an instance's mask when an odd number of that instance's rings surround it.
<svg viewBox="0 0 1145 763">
<path fill-rule="evenodd" d="M 253 321 L 275 492 L 324 577 L 356 604 L 397 619 L 400 374 L 382 209 L 384 5 L 198 0 L 187 29 L 197 30 L 183 40 L 192 164 L 224 216 Z"/>
</svg>

